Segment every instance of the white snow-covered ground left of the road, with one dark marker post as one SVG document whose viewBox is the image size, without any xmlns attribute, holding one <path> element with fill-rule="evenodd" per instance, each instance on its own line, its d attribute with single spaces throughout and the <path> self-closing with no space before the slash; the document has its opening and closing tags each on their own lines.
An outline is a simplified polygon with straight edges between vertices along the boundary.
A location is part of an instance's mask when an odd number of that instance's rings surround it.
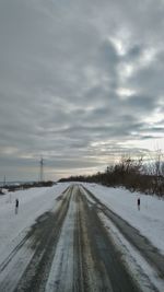
<svg viewBox="0 0 164 292">
<path fill-rule="evenodd" d="M 66 187 L 66 184 L 59 184 L 0 196 L 0 262 L 16 242 L 23 238 L 35 219 L 55 207 L 55 199 Z M 17 214 L 15 214 L 16 198 L 20 201 Z"/>
</svg>

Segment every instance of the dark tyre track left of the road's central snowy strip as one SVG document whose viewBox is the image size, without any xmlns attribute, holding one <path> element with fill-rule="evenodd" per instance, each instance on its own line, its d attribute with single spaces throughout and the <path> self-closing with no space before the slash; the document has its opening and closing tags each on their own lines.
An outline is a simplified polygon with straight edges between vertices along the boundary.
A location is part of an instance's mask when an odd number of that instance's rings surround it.
<svg viewBox="0 0 164 292">
<path fill-rule="evenodd" d="M 61 205 L 57 211 L 49 213 L 39 226 L 37 224 L 34 226 L 34 246 L 38 246 L 14 292 L 45 291 L 62 223 L 69 209 L 71 192 L 72 187 L 61 197 Z"/>
</svg>

